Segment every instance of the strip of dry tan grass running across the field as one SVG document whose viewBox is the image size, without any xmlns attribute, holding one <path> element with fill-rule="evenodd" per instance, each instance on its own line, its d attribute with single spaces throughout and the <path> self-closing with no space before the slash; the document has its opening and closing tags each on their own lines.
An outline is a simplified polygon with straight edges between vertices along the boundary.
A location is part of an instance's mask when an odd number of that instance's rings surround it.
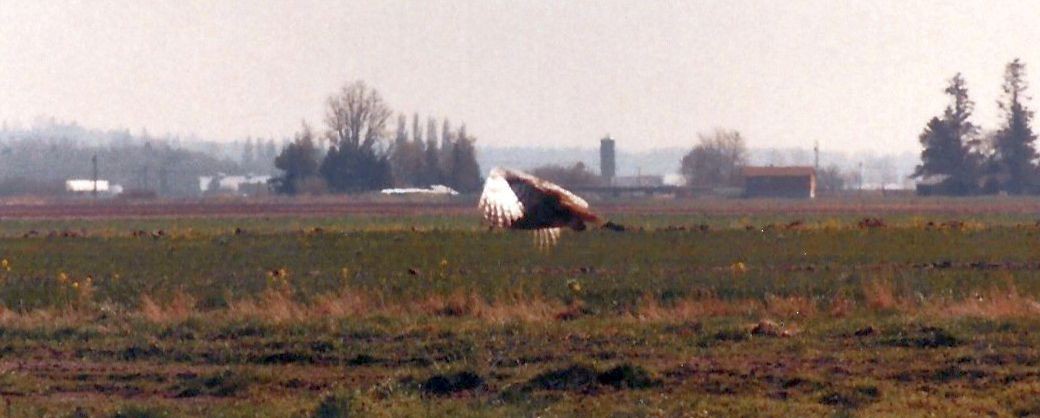
<svg viewBox="0 0 1040 418">
<path fill-rule="evenodd" d="M 727 301 L 709 294 L 682 298 L 670 304 L 662 304 L 658 297 L 647 294 L 633 309 L 620 315 L 644 322 L 679 322 L 727 316 L 772 317 L 781 320 L 810 319 L 821 314 L 847 317 L 864 310 L 944 318 L 1007 318 L 1040 314 L 1040 303 L 1035 297 L 1021 294 L 1010 281 L 1004 286 L 994 286 L 963 298 L 916 301 L 901 294 L 890 280 L 883 279 L 865 283 L 862 292 L 862 305 L 844 294 L 835 295 L 829 303 L 800 295 L 770 295 L 764 299 Z M 99 313 L 106 310 L 111 311 L 97 304 L 83 306 L 79 303 L 72 303 L 66 309 L 43 309 L 23 313 L 0 307 L 0 325 L 73 326 L 89 323 Z M 470 318 L 490 323 L 547 323 L 574 319 L 589 313 L 582 308 L 580 301 L 565 304 L 563 301 L 540 295 L 514 294 L 501 299 L 488 301 L 474 292 L 460 290 L 419 299 L 388 302 L 378 293 L 345 288 L 318 296 L 313 302 L 303 303 L 293 297 L 291 291 L 287 289 L 272 288 L 256 297 L 233 302 L 227 309 L 212 311 L 200 310 L 197 299 L 186 292 L 176 292 L 165 303 L 142 295 L 137 310 L 122 314 L 154 323 L 168 324 L 202 316 L 215 320 L 251 319 L 269 323 L 313 322 L 372 316 L 439 316 Z"/>
</svg>

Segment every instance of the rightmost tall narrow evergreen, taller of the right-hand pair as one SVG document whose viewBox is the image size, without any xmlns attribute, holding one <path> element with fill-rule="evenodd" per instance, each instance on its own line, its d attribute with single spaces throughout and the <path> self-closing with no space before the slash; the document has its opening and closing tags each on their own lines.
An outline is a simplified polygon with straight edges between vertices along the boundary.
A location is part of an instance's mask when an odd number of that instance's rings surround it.
<svg viewBox="0 0 1040 418">
<path fill-rule="evenodd" d="M 1021 194 L 1033 188 L 1037 158 L 1033 142 L 1036 134 L 1030 126 L 1033 111 L 1025 107 L 1028 88 L 1025 64 L 1018 58 L 1008 63 L 1004 73 L 1004 100 L 998 103 L 1005 125 L 993 139 L 989 173 L 1000 190 Z"/>
</svg>

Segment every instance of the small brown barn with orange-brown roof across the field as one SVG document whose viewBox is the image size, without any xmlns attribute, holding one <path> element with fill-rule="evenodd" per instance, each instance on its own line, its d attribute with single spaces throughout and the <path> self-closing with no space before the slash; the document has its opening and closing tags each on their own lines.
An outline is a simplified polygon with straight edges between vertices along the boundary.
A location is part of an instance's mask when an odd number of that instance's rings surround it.
<svg viewBox="0 0 1040 418">
<path fill-rule="evenodd" d="M 747 198 L 816 197 L 816 171 L 811 166 L 746 166 L 740 175 Z"/>
</svg>

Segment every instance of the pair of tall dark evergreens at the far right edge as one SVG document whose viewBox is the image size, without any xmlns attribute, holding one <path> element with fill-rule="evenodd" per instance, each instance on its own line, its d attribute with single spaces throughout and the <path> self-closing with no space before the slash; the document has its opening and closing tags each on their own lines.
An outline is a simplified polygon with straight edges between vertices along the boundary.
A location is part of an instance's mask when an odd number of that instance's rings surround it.
<svg viewBox="0 0 1040 418">
<path fill-rule="evenodd" d="M 912 178 L 920 179 L 936 194 L 1036 194 L 1040 167 L 1034 146 L 1033 110 L 1026 102 L 1025 63 L 1014 59 L 1005 67 L 1002 97 L 997 101 L 1003 122 L 984 132 L 970 119 L 974 102 L 960 73 L 943 90 L 950 104 L 932 117 L 918 140 L 924 147 Z"/>
</svg>

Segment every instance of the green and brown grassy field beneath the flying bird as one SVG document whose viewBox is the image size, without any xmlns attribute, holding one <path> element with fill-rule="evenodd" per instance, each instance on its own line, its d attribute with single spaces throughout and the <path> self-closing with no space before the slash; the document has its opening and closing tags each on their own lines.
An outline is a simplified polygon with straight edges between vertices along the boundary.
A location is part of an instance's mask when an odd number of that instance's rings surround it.
<svg viewBox="0 0 1040 418">
<path fill-rule="evenodd" d="M 0 413 L 1040 414 L 1036 203 L 733 205 L 9 216 Z"/>
</svg>

